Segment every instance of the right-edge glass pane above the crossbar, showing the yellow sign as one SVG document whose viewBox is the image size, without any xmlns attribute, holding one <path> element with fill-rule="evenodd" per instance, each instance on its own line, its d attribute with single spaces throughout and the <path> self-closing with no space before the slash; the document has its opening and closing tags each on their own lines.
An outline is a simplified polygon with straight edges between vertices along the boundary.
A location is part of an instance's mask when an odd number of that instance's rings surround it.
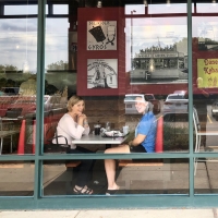
<svg viewBox="0 0 218 218">
<path fill-rule="evenodd" d="M 196 4 L 197 11 L 211 13 L 216 2 Z M 195 116 L 195 152 L 216 152 L 217 146 L 217 62 L 218 19 L 193 16 L 193 105 Z"/>
</svg>

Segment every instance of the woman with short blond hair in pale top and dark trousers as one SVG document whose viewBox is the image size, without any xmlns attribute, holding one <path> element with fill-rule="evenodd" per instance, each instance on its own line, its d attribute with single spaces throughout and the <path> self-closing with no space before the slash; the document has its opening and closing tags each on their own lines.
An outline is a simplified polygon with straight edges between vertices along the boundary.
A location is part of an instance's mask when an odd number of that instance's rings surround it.
<svg viewBox="0 0 218 218">
<path fill-rule="evenodd" d="M 85 109 L 84 100 L 78 96 L 72 96 L 68 101 L 68 113 L 59 121 L 57 126 L 57 135 L 64 136 L 70 145 L 70 154 L 93 153 L 84 147 L 73 144 L 73 140 L 80 140 L 82 135 L 89 134 L 87 117 L 83 113 Z M 64 137 L 59 137 L 59 144 L 65 144 Z M 56 144 L 56 140 L 53 140 Z M 87 186 L 92 177 L 94 160 L 82 160 L 78 169 L 74 194 L 93 194 L 93 190 Z"/>
</svg>

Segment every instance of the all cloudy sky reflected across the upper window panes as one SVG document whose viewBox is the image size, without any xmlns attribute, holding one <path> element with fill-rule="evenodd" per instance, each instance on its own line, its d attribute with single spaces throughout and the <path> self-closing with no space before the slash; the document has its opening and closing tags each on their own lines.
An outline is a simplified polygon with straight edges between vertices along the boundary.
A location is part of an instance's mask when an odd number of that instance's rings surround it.
<svg viewBox="0 0 218 218">
<path fill-rule="evenodd" d="M 197 3 L 197 12 L 216 12 L 217 4 Z M 46 12 L 48 8 L 46 8 Z M 165 10 L 164 10 L 165 9 Z M 134 12 L 133 12 L 134 11 Z M 161 14 L 168 11 L 168 17 L 152 17 L 152 14 Z M 128 69 L 130 69 L 130 48 L 133 53 L 152 45 L 173 45 L 187 36 L 186 17 L 171 17 L 173 13 L 185 13 L 186 4 L 148 4 L 150 17 L 133 17 L 125 20 L 125 56 Z M 56 14 L 66 14 L 68 5 L 53 5 Z M 4 14 L 36 14 L 37 5 L 5 5 Z M 125 14 L 140 15 L 145 13 L 144 4 L 131 4 L 125 7 Z M 217 17 L 193 16 L 193 37 L 207 37 L 214 40 L 218 38 Z M 132 29 L 131 29 L 131 26 Z M 28 62 L 29 70 L 36 72 L 37 62 L 37 19 L 2 19 L 0 20 L 0 64 L 12 64 L 19 70 L 24 62 Z M 131 39 L 132 34 L 132 39 Z M 131 41 L 132 40 L 132 41 Z M 69 21 L 68 19 L 46 20 L 46 60 L 48 64 L 60 60 L 69 60 Z M 178 51 L 186 55 L 186 45 L 178 46 Z M 126 70 L 128 71 L 128 70 Z"/>
</svg>

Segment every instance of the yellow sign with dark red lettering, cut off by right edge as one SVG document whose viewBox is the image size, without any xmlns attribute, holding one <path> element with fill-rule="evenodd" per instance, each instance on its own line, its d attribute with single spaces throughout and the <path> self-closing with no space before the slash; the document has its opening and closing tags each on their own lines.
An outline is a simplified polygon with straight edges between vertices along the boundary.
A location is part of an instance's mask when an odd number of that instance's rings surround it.
<svg viewBox="0 0 218 218">
<path fill-rule="evenodd" d="M 197 87 L 218 87 L 218 59 L 197 59 Z"/>
</svg>

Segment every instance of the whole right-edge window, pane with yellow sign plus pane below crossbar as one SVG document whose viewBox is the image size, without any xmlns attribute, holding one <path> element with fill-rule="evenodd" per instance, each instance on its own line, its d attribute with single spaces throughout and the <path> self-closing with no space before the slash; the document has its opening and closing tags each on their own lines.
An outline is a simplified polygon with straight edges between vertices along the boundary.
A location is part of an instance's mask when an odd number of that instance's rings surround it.
<svg viewBox="0 0 218 218">
<path fill-rule="evenodd" d="M 196 2 L 193 16 L 193 108 L 195 153 L 217 153 L 217 16 L 216 1 Z M 198 13 L 201 12 L 201 15 Z M 207 14 L 207 15 L 206 15 Z M 217 158 L 195 158 L 195 193 L 216 193 Z M 201 179 L 201 180 L 199 180 Z M 201 182 L 199 182 L 201 181 Z M 203 182 L 204 181 L 204 182 Z"/>
</svg>

